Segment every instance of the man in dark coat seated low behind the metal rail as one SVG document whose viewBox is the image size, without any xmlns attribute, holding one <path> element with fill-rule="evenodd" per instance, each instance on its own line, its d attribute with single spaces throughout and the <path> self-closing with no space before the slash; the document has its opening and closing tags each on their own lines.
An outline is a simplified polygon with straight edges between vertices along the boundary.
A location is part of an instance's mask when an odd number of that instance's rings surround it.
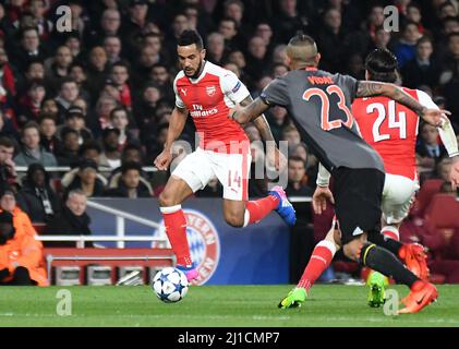
<svg viewBox="0 0 459 349">
<path fill-rule="evenodd" d="M 90 218 L 86 213 L 87 196 L 84 191 L 71 190 L 62 213 L 58 214 L 47 227 L 47 233 L 57 236 L 90 236 Z M 47 242 L 46 246 L 74 248 L 74 242 Z M 92 248 L 92 242 L 85 246 Z"/>
</svg>

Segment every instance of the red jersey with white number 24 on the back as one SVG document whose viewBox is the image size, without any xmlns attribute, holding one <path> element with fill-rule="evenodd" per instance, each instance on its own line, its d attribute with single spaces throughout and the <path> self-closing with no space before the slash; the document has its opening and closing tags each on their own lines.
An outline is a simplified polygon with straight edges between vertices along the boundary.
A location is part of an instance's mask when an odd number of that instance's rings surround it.
<svg viewBox="0 0 459 349">
<path fill-rule="evenodd" d="M 402 87 L 427 108 L 438 108 L 422 91 Z M 352 113 L 362 137 L 379 153 L 387 173 L 415 179 L 415 142 L 419 117 L 387 97 L 357 98 Z"/>
</svg>

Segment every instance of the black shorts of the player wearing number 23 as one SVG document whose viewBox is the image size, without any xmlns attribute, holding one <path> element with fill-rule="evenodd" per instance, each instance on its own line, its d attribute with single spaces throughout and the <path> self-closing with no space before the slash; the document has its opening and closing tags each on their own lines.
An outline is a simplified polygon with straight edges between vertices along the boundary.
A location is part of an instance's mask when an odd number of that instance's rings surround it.
<svg viewBox="0 0 459 349">
<path fill-rule="evenodd" d="M 372 168 L 339 167 L 331 177 L 342 245 L 360 238 L 364 231 L 379 233 L 385 173 Z"/>
</svg>

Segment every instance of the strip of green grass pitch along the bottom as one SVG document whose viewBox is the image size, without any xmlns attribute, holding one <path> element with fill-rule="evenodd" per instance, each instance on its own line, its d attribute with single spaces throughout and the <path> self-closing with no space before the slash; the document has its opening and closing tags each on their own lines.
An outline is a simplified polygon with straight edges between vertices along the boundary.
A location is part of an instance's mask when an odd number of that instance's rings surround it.
<svg viewBox="0 0 459 349">
<path fill-rule="evenodd" d="M 192 287 L 179 303 L 145 287 L 0 288 L 0 326 L 459 326 L 459 286 L 439 286 L 421 313 L 384 315 L 366 305 L 366 287 L 317 285 L 300 309 L 279 310 L 285 286 Z M 400 297 L 407 288 L 392 287 Z M 72 296 L 72 315 L 57 315 L 57 292 Z"/>
</svg>

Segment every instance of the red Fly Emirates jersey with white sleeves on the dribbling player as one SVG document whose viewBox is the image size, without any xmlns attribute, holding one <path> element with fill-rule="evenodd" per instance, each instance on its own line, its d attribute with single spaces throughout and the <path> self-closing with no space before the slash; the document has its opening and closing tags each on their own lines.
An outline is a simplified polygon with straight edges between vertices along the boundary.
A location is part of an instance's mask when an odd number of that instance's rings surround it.
<svg viewBox="0 0 459 349">
<path fill-rule="evenodd" d="M 234 144 L 249 144 L 241 125 L 228 118 L 230 108 L 250 96 L 245 85 L 229 70 L 208 61 L 196 79 L 180 71 L 173 81 L 176 106 L 186 108 L 200 133 L 200 147 L 218 153 L 240 153 Z M 216 146 L 217 145 L 217 146 Z M 222 145 L 222 146 L 218 146 Z"/>
</svg>

